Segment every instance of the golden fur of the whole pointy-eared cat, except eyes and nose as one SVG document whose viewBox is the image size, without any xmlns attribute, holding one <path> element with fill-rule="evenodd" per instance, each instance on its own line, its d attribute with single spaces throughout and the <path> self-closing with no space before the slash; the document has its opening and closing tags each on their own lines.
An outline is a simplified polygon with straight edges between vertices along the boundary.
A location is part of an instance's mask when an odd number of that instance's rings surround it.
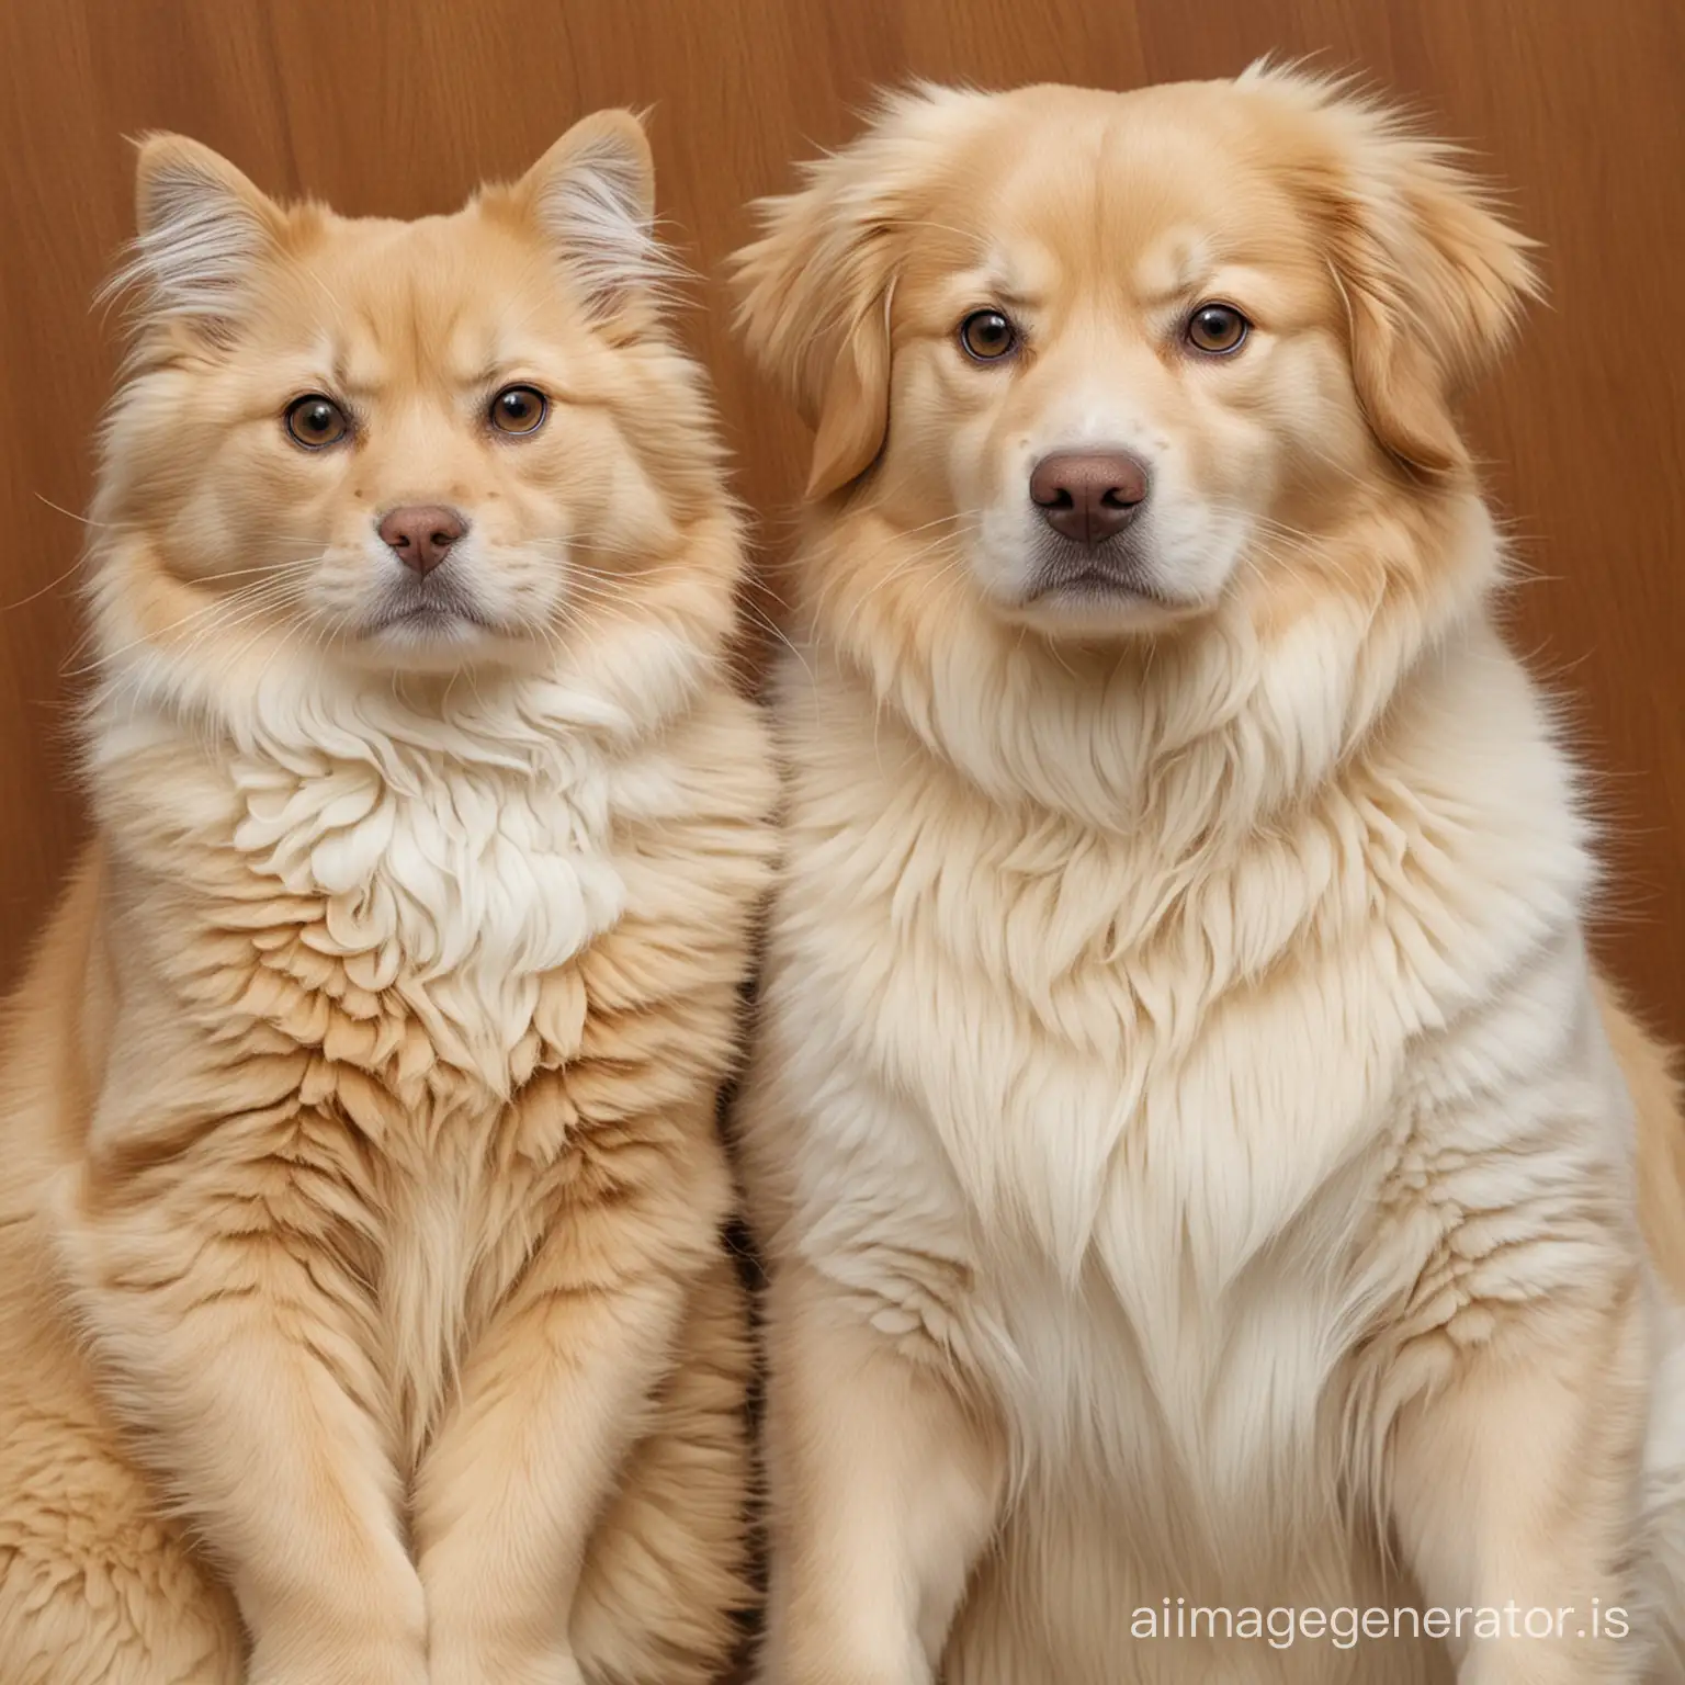
<svg viewBox="0 0 1685 1685">
<path fill-rule="evenodd" d="M 415 224 L 177 138 L 138 194 L 98 842 L 0 1077 L 0 1678 L 713 1678 L 773 780 L 647 143 L 590 118 Z M 425 581 L 409 504 L 468 517 Z"/>
</svg>

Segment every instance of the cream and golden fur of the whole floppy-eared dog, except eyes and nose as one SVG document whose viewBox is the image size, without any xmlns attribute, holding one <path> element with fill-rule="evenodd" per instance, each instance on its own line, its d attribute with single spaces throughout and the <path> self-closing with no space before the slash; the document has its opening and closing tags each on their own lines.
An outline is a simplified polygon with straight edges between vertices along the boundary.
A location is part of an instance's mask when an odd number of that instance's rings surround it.
<svg viewBox="0 0 1685 1685">
<path fill-rule="evenodd" d="M 1685 1677 L 1685 1137 L 1454 408 L 1527 243 L 1260 69 L 893 99 L 740 280 L 816 428 L 743 1102 L 767 1685 Z M 1045 588 L 1072 448 L 1151 470 L 1127 588 Z M 1149 1638 L 1178 1599 L 1577 1618 Z"/>
</svg>

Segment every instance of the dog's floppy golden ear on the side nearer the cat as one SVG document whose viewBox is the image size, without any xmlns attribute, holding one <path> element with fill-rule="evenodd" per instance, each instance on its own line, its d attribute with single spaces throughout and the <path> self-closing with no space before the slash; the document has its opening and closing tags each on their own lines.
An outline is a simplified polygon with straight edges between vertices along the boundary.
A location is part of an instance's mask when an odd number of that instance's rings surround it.
<svg viewBox="0 0 1685 1685">
<path fill-rule="evenodd" d="M 762 236 L 733 258 L 750 356 L 814 430 L 810 499 L 858 480 L 883 448 L 896 265 L 969 99 L 930 86 L 888 99 L 859 140 L 805 167 L 800 192 L 757 206 Z"/>
</svg>

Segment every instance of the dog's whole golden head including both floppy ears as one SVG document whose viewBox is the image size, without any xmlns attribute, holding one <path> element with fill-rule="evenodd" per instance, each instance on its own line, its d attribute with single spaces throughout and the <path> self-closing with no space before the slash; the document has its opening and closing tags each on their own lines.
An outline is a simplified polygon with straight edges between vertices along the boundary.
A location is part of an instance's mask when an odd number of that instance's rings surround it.
<svg viewBox="0 0 1685 1685">
<path fill-rule="evenodd" d="M 1272 74 L 922 94 L 767 224 L 745 325 L 810 492 L 1078 637 L 1267 590 L 1388 460 L 1459 472 L 1447 406 L 1530 285 L 1434 148 Z"/>
</svg>

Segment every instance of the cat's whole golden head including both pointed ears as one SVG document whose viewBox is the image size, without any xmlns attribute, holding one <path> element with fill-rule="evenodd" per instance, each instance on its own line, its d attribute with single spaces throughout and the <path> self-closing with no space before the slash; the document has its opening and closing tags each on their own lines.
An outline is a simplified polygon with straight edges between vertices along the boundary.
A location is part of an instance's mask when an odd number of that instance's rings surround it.
<svg viewBox="0 0 1685 1685">
<path fill-rule="evenodd" d="M 635 610 L 718 495 L 650 209 L 625 113 L 418 222 L 283 209 L 206 148 L 148 142 L 98 509 L 140 635 L 457 672 Z"/>
</svg>

